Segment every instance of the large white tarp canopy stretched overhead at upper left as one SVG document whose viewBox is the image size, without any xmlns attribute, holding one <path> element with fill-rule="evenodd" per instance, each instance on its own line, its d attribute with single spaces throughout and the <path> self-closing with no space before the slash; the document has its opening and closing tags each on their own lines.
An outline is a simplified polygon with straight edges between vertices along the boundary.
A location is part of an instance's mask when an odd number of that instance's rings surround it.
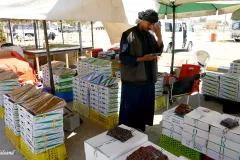
<svg viewBox="0 0 240 160">
<path fill-rule="evenodd" d="M 158 0 L 1 0 L 0 18 L 134 24 L 146 9 L 158 11 Z"/>
</svg>

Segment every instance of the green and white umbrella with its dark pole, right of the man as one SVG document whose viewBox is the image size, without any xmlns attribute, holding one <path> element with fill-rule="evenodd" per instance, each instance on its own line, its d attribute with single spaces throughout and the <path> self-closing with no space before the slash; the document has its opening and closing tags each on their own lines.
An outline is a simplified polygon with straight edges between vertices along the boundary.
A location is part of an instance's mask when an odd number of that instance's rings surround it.
<svg viewBox="0 0 240 160">
<path fill-rule="evenodd" d="M 161 7 L 158 11 L 161 18 L 173 19 L 172 35 L 172 62 L 170 73 L 173 74 L 174 54 L 175 54 L 175 19 L 200 17 L 208 15 L 232 13 L 240 8 L 240 1 L 217 1 L 212 0 L 160 0 Z M 230 2 L 228 2 L 230 1 Z M 204 2 L 204 3 L 203 3 Z M 238 3 L 239 2 L 239 3 Z"/>
</svg>

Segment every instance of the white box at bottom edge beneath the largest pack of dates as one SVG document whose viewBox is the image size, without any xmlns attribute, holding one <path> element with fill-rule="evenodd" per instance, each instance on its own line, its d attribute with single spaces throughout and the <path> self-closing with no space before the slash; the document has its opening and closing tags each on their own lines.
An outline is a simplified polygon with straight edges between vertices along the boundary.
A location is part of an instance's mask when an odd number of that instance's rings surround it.
<svg viewBox="0 0 240 160">
<path fill-rule="evenodd" d="M 146 142 L 146 143 L 144 143 L 144 144 L 142 144 L 142 145 L 140 145 L 140 146 L 138 146 L 138 147 L 136 147 L 136 148 L 134 148 L 134 149 L 132 149 L 131 151 L 125 153 L 124 155 L 118 157 L 118 158 L 115 159 L 115 160 L 126 160 L 128 156 L 130 156 L 134 151 L 138 150 L 140 147 L 147 147 L 147 146 L 149 146 L 149 145 L 153 146 L 154 148 L 156 148 L 156 149 L 158 149 L 159 151 L 161 151 L 163 154 L 167 155 L 169 160 L 178 160 L 178 157 L 177 157 L 177 156 L 169 153 L 168 151 L 160 148 L 159 146 L 157 146 L 157 145 L 155 145 L 155 144 L 153 144 L 153 143 L 151 143 L 151 142 L 149 142 L 149 141 Z"/>
</svg>

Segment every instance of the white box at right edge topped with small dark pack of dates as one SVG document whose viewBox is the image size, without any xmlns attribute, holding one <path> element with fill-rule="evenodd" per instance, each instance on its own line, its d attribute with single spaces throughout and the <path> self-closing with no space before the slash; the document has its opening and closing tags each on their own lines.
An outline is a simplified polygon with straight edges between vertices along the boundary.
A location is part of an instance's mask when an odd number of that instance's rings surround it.
<svg viewBox="0 0 240 160">
<path fill-rule="evenodd" d="M 220 116 L 220 119 L 212 122 L 210 133 L 217 135 L 218 137 L 224 136 L 224 137 L 226 137 L 226 139 L 240 144 L 240 126 L 234 128 L 232 130 L 229 130 L 229 131 L 226 130 L 226 127 L 224 127 L 220 124 L 221 121 L 226 118 L 236 119 L 238 121 L 238 123 L 240 123 L 240 118 L 237 118 L 237 117 L 234 117 L 231 115 L 227 115 L 227 114 L 223 114 Z"/>
</svg>

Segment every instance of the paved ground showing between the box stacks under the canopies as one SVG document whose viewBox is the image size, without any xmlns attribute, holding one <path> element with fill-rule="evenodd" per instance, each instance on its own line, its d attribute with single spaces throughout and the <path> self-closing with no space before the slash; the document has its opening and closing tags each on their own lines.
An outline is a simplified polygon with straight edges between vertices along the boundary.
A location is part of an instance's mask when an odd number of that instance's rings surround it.
<svg viewBox="0 0 240 160">
<path fill-rule="evenodd" d="M 182 99 L 179 103 L 186 102 L 186 99 Z M 201 106 L 216 110 L 221 112 L 221 104 L 215 101 L 205 102 L 203 97 L 201 96 Z M 176 105 L 176 104 L 175 104 Z M 192 96 L 190 98 L 190 105 L 194 108 L 197 107 L 197 96 Z M 68 104 L 69 108 L 72 106 L 72 103 Z M 174 105 L 173 105 L 174 106 Z M 154 116 L 154 126 L 147 127 L 146 134 L 149 136 L 149 141 L 158 144 L 159 138 L 161 135 L 161 121 L 162 121 L 162 113 L 166 110 L 163 108 L 155 113 Z M 97 125 L 96 123 L 91 122 L 90 120 L 83 118 L 83 124 L 75 129 L 73 132 L 65 132 L 65 144 L 68 152 L 68 156 L 70 160 L 84 160 L 84 140 L 87 140 L 95 135 L 98 135 L 105 131 L 104 128 Z M 8 141 L 5 136 L 4 129 L 4 121 L 0 119 L 0 151 L 13 151 L 14 148 Z M 24 158 L 15 151 L 14 155 L 9 156 L 1 156 L 1 160 L 23 160 Z"/>
</svg>

